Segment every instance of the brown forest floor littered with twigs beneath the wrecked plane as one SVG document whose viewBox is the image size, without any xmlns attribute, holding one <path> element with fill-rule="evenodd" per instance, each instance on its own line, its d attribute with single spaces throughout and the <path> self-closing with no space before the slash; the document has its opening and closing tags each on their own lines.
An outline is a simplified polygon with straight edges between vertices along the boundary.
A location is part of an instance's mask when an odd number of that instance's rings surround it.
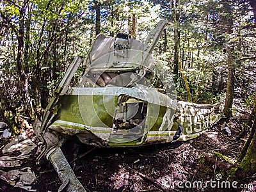
<svg viewBox="0 0 256 192">
<path fill-rule="evenodd" d="M 227 121 L 231 136 L 221 130 L 225 120 L 220 120 L 212 129 L 186 142 L 92 150 L 93 147 L 71 138 L 62 150 L 69 162 L 84 155 L 70 165 L 86 191 L 255 191 L 256 175 L 247 178 L 235 175 L 237 189 L 232 188 L 232 181 L 229 189 L 228 185 L 221 186 L 222 181 L 231 179 L 227 171 L 235 166 L 232 162 L 239 156 L 248 136 L 236 140 L 243 122 L 241 118 Z M 33 138 L 33 134 L 29 136 Z M 0 143 L 0 156 L 6 142 Z M 35 152 L 36 149 L 20 167 L 30 166 L 35 173 L 32 189 L 58 191 L 61 181 L 57 173 L 45 159 L 36 164 Z M 202 182 L 202 187 L 197 186 L 198 182 Z M 0 191 L 26 190 L 14 188 L 0 179 Z"/>
</svg>

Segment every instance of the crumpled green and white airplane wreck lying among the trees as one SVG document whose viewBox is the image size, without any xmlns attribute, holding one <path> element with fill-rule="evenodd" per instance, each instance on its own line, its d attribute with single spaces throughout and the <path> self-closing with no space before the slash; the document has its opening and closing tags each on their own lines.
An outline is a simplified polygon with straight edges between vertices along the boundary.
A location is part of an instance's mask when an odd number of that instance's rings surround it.
<svg viewBox="0 0 256 192">
<path fill-rule="evenodd" d="M 85 191 L 61 145 L 68 136 L 97 147 L 129 147 L 189 140 L 220 119 L 218 104 L 178 102 L 168 72 L 160 72 L 166 94 L 150 83 L 155 63 L 152 51 L 164 27 L 161 20 L 143 44 L 128 35 L 98 35 L 83 62 L 78 87 L 70 81 L 82 60 L 74 58 L 49 102 L 38 138 L 61 179 L 59 189 Z"/>
</svg>

